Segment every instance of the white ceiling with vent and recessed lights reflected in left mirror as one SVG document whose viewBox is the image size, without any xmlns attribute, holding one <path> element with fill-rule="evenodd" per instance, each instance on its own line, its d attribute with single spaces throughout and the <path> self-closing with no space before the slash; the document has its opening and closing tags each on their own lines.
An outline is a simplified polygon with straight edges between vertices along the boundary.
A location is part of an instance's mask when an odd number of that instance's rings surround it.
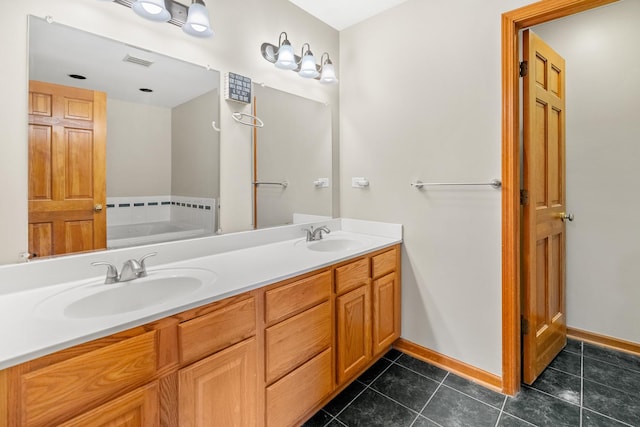
<svg viewBox="0 0 640 427">
<path fill-rule="evenodd" d="M 124 62 L 126 55 L 151 66 Z M 76 80 L 68 74 L 81 74 Z M 29 78 L 99 90 L 107 97 L 171 108 L 218 87 L 217 73 L 164 55 L 30 17 Z M 140 88 L 154 89 L 153 93 Z"/>
</svg>

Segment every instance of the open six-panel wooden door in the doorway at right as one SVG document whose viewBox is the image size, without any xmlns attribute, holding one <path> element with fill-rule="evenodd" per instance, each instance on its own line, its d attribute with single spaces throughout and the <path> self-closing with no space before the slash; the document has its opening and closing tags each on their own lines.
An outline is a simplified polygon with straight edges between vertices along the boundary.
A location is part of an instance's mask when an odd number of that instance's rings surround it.
<svg viewBox="0 0 640 427">
<path fill-rule="evenodd" d="M 565 63 L 524 32 L 523 380 L 533 383 L 566 345 Z"/>
</svg>

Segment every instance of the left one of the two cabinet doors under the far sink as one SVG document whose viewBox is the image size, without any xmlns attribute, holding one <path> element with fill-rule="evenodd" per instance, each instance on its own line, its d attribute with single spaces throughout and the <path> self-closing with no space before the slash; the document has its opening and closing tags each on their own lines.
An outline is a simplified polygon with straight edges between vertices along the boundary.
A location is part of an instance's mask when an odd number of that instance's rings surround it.
<svg viewBox="0 0 640 427">
<path fill-rule="evenodd" d="M 336 298 L 338 384 L 371 359 L 371 291 L 364 285 Z"/>
</svg>

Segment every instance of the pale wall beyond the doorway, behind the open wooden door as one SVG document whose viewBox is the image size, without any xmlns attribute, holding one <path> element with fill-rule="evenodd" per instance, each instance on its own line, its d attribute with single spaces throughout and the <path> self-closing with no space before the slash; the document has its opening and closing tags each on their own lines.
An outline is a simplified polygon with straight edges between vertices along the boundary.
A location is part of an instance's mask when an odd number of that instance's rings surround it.
<svg viewBox="0 0 640 427">
<path fill-rule="evenodd" d="M 534 31 L 566 59 L 567 323 L 640 342 L 640 2 Z"/>
</svg>

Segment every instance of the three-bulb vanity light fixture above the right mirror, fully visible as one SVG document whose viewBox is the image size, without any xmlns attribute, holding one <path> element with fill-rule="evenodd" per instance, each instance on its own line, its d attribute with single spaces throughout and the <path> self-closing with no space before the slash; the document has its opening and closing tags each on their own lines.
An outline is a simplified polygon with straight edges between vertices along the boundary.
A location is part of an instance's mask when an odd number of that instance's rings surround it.
<svg viewBox="0 0 640 427">
<path fill-rule="evenodd" d="M 311 52 L 309 43 L 302 45 L 300 56 L 293 53 L 293 47 L 287 39 L 287 33 L 280 33 L 278 45 L 262 43 L 260 46 L 262 57 L 283 70 L 292 70 L 300 77 L 316 79 L 325 84 L 336 84 L 336 70 L 327 52 L 322 54 L 320 65 L 316 64 L 316 59 Z M 325 59 L 326 55 L 326 59 Z"/>
</svg>

